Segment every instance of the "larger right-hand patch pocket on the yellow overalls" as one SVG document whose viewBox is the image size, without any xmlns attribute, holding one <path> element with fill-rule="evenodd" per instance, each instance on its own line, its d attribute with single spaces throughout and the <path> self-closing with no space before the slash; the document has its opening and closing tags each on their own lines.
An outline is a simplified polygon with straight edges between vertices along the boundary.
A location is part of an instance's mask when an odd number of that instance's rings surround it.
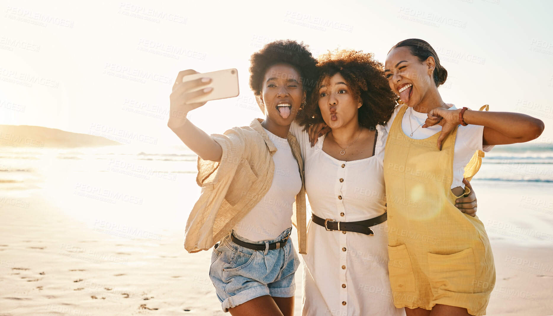
<svg viewBox="0 0 553 316">
<path fill-rule="evenodd" d="M 476 280 L 472 248 L 450 255 L 427 253 L 432 292 L 473 293 Z"/>
</svg>

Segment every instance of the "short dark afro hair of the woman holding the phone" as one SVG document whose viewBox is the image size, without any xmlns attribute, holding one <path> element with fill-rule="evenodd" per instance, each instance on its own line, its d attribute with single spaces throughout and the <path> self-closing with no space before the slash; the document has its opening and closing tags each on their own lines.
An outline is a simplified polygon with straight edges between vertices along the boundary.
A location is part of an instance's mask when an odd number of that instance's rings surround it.
<svg viewBox="0 0 553 316">
<path fill-rule="evenodd" d="M 300 73 L 307 98 L 311 96 L 317 80 L 317 60 L 308 50 L 309 45 L 293 40 L 278 40 L 263 46 L 250 58 L 249 87 L 255 95 L 260 95 L 263 87 L 263 78 L 267 69 L 277 63 L 286 63 L 293 66 Z"/>
</svg>

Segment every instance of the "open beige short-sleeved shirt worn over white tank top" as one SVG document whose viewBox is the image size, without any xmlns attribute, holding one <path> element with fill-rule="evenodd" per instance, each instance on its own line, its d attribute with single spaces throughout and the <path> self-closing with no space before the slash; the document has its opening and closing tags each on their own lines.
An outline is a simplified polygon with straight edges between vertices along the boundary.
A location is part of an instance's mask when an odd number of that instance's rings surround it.
<svg viewBox="0 0 553 316">
<path fill-rule="evenodd" d="M 196 183 L 202 190 L 186 222 L 184 248 L 189 253 L 213 247 L 269 191 L 276 147 L 263 130 L 262 121 L 255 119 L 249 126 L 234 127 L 224 135 L 211 135 L 223 149 L 221 162 L 198 157 Z M 306 254 L 304 164 L 296 138 L 289 132 L 287 139 L 301 176 L 292 223 L 298 229 L 299 252 Z"/>
</svg>

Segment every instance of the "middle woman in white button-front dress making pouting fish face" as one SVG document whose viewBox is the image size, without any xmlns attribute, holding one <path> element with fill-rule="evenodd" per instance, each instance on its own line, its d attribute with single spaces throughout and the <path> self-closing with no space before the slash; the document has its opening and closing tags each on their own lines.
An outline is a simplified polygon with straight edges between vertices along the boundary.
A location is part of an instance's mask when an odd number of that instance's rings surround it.
<svg viewBox="0 0 553 316">
<path fill-rule="evenodd" d="M 382 124 L 397 97 L 372 54 L 339 51 L 318 59 L 320 79 L 300 124 L 324 120 L 332 130 L 311 147 L 302 127 L 290 128 L 300 143 L 314 215 L 303 256 L 302 315 L 404 315 L 394 307 L 388 278 L 383 174 Z M 473 200 L 462 199 L 461 207 L 473 208 L 465 204 Z M 357 221 L 366 222 L 351 224 Z"/>
</svg>

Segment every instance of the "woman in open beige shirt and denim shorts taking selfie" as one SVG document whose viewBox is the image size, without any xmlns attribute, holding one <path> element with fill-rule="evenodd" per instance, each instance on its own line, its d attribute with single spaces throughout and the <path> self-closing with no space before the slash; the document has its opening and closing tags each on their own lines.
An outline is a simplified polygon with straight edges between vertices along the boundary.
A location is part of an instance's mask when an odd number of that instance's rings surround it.
<svg viewBox="0 0 553 316">
<path fill-rule="evenodd" d="M 265 119 L 207 135 L 186 119 L 205 103 L 188 100 L 210 78 L 182 82 L 197 73 L 179 72 L 170 95 L 168 126 L 198 157 L 202 187 L 186 223 L 185 249 L 208 250 L 210 278 L 222 309 L 232 315 L 293 315 L 294 274 L 299 258 L 289 238 L 298 229 L 306 253 L 303 162 L 290 125 L 316 80 L 316 60 L 307 46 L 275 41 L 251 58 L 250 87 Z M 192 92 L 191 92 L 192 91 Z"/>
</svg>

